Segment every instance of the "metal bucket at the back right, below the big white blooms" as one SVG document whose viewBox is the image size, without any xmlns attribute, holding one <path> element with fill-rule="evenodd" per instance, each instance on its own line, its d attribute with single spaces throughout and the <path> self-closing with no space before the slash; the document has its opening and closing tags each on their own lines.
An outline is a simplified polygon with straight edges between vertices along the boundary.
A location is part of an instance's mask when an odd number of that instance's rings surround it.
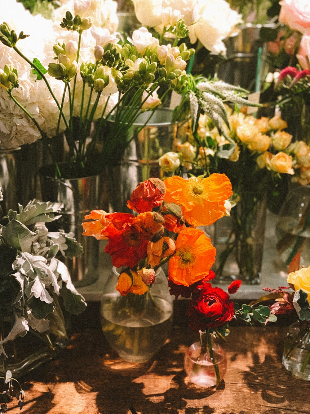
<svg viewBox="0 0 310 414">
<path fill-rule="evenodd" d="M 247 23 L 238 33 L 227 38 L 226 60 L 217 67 L 217 77 L 229 84 L 241 86 L 251 92 L 259 91 L 268 73 L 267 43 L 260 39 L 262 24 Z M 265 24 L 273 28 L 275 24 Z"/>
</svg>

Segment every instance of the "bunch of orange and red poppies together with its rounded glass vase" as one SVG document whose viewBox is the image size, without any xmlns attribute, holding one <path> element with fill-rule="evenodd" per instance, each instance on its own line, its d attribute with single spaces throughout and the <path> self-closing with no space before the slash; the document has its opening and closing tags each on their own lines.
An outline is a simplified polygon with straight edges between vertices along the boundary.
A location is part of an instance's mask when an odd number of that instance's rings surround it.
<svg viewBox="0 0 310 414">
<path fill-rule="evenodd" d="M 101 316 L 107 341 L 123 359 L 145 361 L 167 338 L 172 303 L 160 270 L 165 263 L 169 283 L 177 286 L 208 279 L 215 248 L 196 226 L 222 217 L 230 195 L 224 174 L 165 183 L 150 178 L 127 204 L 138 215 L 95 210 L 85 217 L 83 234 L 107 239 L 105 252 L 117 268 L 105 286 Z"/>
</svg>

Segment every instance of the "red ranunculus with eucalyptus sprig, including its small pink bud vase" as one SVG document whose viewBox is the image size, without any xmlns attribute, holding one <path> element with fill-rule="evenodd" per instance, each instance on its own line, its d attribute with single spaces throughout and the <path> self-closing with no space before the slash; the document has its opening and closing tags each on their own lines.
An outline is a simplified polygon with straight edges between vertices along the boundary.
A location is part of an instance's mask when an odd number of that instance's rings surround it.
<svg viewBox="0 0 310 414">
<path fill-rule="evenodd" d="M 255 320 L 259 323 L 277 320 L 268 306 L 240 306 L 231 302 L 225 291 L 209 283 L 214 276 L 210 271 L 207 277 L 189 287 L 169 284 L 172 294 L 192 296 L 187 315 L 189 326 L 199 331 L 200 340 L 186 351 L 184 368 L 191 382 L 204 387 L 217 387 L 225 375 L 226 353 L 214 339 L 224 339 L 229 334 L 229 322 L 233 318 L 242 319 L 249 325 L 253 325 Z M 234 280 L 228 287 L 229 294 L 236 293 L 240 285 L 240 280 Z"/>
</svg>

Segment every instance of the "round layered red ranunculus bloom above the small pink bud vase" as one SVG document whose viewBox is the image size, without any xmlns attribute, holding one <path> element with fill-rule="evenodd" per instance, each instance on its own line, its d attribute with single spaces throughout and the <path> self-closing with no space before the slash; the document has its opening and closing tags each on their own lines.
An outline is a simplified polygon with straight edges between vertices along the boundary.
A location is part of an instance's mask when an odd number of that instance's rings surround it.
<svg viewBox="0 0 310 414">
<path fill-rule="evenodd" d="M 203 282 L 193 292 L 187 315 L 190 318 L 189 326 L 194 331 L 217 329 L 233 318 L 234 303 L 229 301 L 229 295 L 223 289 Z"/>
</svg>

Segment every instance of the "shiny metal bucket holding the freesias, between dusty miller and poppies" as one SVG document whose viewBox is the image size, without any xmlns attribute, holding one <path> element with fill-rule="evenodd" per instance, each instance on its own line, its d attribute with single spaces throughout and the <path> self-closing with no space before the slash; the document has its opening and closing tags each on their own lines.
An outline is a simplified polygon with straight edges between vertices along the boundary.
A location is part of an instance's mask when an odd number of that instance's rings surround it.
<svg viewBox="0 0 310 414">
<path fill-rule="evenodd" d="M 43 200 L 64 205 L 62 217 L 57 221 L 58 229 L 72 232 L 83 246 L 80 257 L 63 260 L 74 286 L 92 284 L 98 279 L 99 241 L 94 237 L 82 236 L 81 224 L 84 216 L 91 210 L 108 209 L 105 173 L 83 178 L 58 179 L 42 172 L 40 178 Z"/>
</svg>

